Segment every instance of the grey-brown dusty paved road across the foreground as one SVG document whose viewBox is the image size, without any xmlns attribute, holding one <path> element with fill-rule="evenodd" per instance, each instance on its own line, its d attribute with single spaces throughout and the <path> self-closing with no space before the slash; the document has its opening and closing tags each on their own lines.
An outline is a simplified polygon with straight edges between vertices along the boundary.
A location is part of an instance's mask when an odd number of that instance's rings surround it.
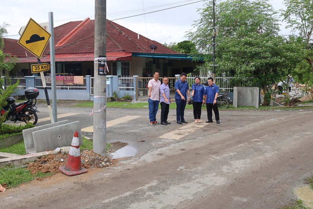
<svg viewBox="0 0 313 209">
<path fill-rule="evenodd" d="M 92 125 L 91 108 L 58 111 L 67 112 L 79 114 L 64 119 Z M 150 126 L 147 109 L 108 109 L 115 123 L 107 141 L 129 143 L 136 156 L 108 170 L 9 189 L 0 208 L 276 208 L 312 175 L 311 110 L 221 111 L 221 124 L 178 125 L 174 114 L 171 125 Z M 116 124 L 125 116 L 140 117 Z M 192 110 L 185 118 L 193 121 Z"/>
</svg>

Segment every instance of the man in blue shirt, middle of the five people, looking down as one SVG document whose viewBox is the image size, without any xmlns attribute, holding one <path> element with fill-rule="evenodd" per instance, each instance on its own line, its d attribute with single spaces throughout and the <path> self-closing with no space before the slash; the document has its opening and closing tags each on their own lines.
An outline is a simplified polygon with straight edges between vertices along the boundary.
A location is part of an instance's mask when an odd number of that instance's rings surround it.
<svg viewBox="0 0 313 209">
<path fill-rule="evenodd" d="M 184 111 L 186 103 L 190 100 L 190 92 L 188 82 L 186 81 L 187 74 L 180 74 L 180 79 L 175 82 L 175 102 L 176 102 L 176 119 L 178 124 L 188 123 L 184 119 Z M 187 98 L 188 95 L 188 98 Z M 187 101 L 186 101 L 187 100 Z"/>
</svg>

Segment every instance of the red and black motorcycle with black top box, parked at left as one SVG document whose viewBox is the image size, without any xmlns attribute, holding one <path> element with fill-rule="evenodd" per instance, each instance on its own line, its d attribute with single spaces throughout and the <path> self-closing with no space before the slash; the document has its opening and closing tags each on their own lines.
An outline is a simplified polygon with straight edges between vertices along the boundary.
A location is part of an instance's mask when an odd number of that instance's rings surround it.
<svg viewBox="0 0 313 209">
<path fill-rule="evenodd" d="M 25 90 L 25 96 L 27 101 L 22 103 L 15 103 L 13 97 L 7 99 L 8 105 L 3 107 L 0 112 L 0 117 L 6 112 L 6 119 L 16 123 L 17 121 L 22 121 L 25 123 L 31 122 L 34 125 L 38 121 L 38 116 L 36 112 L 39 112 L 36 107 L 37 97 L 39 95 L 39 90 L 37 88 L 28 88 Z M 33 99 L 35 103 L 33 104 Z"/>
</svg>

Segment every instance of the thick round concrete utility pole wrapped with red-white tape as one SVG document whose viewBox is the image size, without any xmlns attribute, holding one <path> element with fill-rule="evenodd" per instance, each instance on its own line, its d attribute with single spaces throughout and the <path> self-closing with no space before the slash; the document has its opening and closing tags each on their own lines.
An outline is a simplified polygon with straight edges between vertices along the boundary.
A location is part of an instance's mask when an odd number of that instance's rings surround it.
<svg viewBox="0 0 313 209">
<path fill-rule="evenodd" d="M 99 57 L 106 57 L 106 0 L 95 0 L 94 143 L 97 154 L 106 156 L 106 76 L 99 75 Z"/>
</svg>

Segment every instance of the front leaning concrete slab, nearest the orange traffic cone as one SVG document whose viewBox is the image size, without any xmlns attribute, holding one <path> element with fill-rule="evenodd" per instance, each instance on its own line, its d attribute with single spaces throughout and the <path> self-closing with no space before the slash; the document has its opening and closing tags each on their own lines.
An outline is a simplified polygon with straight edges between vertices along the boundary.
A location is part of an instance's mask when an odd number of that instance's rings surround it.
<svg viewBox="0 0 313 209">
<path fill-rule="evenodd" d="M 33 132 L 36 152 L 44 152 L 46 150 L 54 150 L 58 147 L 70 146 L 75 131 L 78 131 L 80 144 L 83 144 L 79 121 Z"/>
</svg>

